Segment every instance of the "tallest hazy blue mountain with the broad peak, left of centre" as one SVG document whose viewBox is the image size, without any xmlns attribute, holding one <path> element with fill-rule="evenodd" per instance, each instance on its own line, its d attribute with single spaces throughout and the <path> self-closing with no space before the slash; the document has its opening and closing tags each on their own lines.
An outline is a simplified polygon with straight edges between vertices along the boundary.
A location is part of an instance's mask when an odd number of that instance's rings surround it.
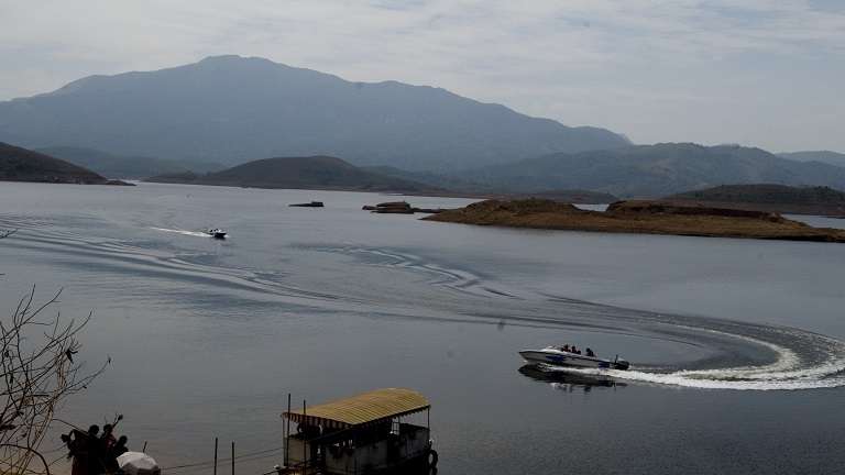
<svg viewBox="0 0 845 475">
<path fill-rule="evenodd" d="M 90 76 L 0 102 L 0 140 L 229 165 L 243 157 L 332 155 L 411 170 L 629 144 L 604 129 L 570 128 L 445 89 L 351 82 L 239 56 Z"/>
</svg>

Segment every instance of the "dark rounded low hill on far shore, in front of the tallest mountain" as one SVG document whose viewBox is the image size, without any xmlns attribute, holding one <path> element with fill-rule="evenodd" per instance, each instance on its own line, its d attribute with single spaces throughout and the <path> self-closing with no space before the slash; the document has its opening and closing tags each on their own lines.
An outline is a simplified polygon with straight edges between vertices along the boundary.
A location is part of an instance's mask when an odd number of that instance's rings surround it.
<svg viewBox="0 0 845 475">
<path fill-rule="evenodd" d="M 367 172 L 340 158 L 329 156 L 264 158 L 205 175 L 183 173 L 157 176 L 149 178 L 146 181 L 396 192 L 435 192 L 439 190 L 416 181 Z"/>
</svg>

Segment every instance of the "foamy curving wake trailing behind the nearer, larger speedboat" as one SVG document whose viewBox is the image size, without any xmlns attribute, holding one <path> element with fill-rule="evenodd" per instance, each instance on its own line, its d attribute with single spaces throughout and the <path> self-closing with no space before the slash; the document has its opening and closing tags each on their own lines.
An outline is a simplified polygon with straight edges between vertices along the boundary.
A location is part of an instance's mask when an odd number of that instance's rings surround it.
<svg viewBox="0 0 845 475">
<path fill-rule="evenodd" d="M 376 266 L 403 268 L 428 276 L 428 284 L 446 287 L 467 297 L 497 300 L 495 305 L 471 303 L 471 311 L 450 300 L 448 310 L 508 324 L 548 325 L 577 331 L 615 333 L 703 349 L 705 356 L 682 364 L 666 363 L 632 369 L 551 368 L 580 376 L 612 377 L 643 384 L 702 389 L 799 390 L 845 386 L 845 343 L 794 328 L 729 321 L 706 317 L 649 312 L 601 305 L 530 290 L 507 288 L 486 276 L 397 248 L 359 246 L 310 247 L 314 251 L 353 255 Z M 410 301 L 410 296 L 404 296 Z M 463 303 L 470 300 L 460 300 Z M 525 302 L 530 302 L 530 309 Z M 447 301 L 418 302 L 426 308 Z M 503 316 L 506 316 L 502 318 Z"/>
</svg>

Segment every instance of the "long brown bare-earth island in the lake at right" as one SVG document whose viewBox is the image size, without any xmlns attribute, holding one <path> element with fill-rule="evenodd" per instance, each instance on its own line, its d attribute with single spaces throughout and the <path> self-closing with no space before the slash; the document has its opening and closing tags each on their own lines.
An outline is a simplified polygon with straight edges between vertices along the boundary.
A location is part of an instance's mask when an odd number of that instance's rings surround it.
<svg viewBox="0 0 845 475">
<path fill-rule="evenodd" d="M 777 213 L 660 201 L 617 201 L 600 212 L 544 199 L 486 200 L 422 219 L 570 231 L 845 242 L 845 230 L 813 228 Z"/>
</svg>

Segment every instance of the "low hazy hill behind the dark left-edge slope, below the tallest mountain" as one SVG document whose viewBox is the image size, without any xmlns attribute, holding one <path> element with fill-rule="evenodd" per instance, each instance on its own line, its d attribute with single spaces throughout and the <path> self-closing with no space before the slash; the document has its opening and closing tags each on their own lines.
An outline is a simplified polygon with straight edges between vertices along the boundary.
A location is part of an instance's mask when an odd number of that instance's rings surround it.
<svg viewBox="0 0 845 475">
<path fill-rule="evenodd" d="M 125 157 L 94 148 L 73 146 L 44 147 L 37 148 L 36 152 L 68 161 L 109 178 L 136 179 L 155 175 L 185 172 L 206 173 L 226 168 L 220 164 L 209 162 L 172 161 L 143 156 Z"/>
</svg>

